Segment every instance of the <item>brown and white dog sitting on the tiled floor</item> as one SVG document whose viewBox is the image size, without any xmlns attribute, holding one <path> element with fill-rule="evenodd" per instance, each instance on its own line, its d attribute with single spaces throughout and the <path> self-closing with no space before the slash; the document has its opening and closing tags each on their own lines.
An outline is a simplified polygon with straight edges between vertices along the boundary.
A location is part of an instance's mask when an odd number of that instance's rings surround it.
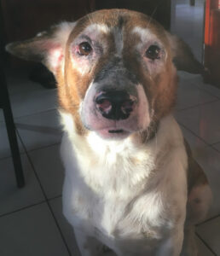
<svg viewBox="0 0 220 256">
<path fill-rule="evenodd" d="M 58 86 L 63 212 L 83 256 L 197 255 L 211 189 L 172 116 L 177 68 L 202 73 L 151 17 L 100 10 L 6 49 Z"/>
</svg>

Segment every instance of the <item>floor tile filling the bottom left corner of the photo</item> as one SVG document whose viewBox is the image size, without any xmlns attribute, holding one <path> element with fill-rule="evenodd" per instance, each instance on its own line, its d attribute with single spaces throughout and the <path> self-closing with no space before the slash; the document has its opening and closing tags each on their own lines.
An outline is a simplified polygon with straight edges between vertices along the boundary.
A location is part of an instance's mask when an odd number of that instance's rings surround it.
<svg viewBox="0 0 220 256">
<path fill-rule="evenodd" d="M 0 218 L 0 226 L 0 255 L 69 256 L 45 203 Z"/>
</svg>

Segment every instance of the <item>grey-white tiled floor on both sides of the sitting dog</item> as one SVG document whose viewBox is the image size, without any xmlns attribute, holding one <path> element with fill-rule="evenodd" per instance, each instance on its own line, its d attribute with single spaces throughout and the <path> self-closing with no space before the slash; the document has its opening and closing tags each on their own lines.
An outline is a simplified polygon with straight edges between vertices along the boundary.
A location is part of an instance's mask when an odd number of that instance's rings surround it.
<svg viewBox="0 0 220 256">
<path fill-rule="evenodd" d="M 220 255 L 220 90 L 203 84 L 199 75 L 179 76 L 175 116 L 214 195 L 206 221 L 196 228 L 200 256 Z M 26 187 L 16 189 L 0 110 L 0 255 L 78 256 L 72 228 L 61 213 L 56 90 L 28 81 L 26 73 L 10 74 L 8 81 Z"/>
</svg>

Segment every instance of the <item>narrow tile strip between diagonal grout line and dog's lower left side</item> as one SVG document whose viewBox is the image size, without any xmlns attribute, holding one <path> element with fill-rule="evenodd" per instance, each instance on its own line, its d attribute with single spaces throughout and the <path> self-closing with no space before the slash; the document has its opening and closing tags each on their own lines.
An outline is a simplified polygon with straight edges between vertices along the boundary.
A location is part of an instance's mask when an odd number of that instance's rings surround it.
<svg viewBox="0 0 220 256">
<path fill-rule="evenodd" d="M 65 237 L 65 240 L 67 241 L 67 245 L 72 253 L 72 256 L 80 256 L 72 226 L 67 222 L 67 219 L 62 214 L 61 197 L 49 201 L 49 203 L 53 209 L 53 212 L 55 213 L 55 218 L 57 219 L 61 227 L 62 234 Z"/>
</svg>

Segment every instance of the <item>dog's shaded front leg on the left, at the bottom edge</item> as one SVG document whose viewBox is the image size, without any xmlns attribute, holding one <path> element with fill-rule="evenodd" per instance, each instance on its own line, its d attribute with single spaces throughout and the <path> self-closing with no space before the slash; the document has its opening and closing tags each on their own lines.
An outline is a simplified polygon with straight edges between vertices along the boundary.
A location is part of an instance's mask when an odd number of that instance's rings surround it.
<svg viewBox="0 0 220 256">
<path fill-rule="evenodd" d="M 92 236 L 88 236 L 82 230 L 74 229 L 78 248 L 82 256 L 101 256 L 103 244 Z"/>
</svg>

